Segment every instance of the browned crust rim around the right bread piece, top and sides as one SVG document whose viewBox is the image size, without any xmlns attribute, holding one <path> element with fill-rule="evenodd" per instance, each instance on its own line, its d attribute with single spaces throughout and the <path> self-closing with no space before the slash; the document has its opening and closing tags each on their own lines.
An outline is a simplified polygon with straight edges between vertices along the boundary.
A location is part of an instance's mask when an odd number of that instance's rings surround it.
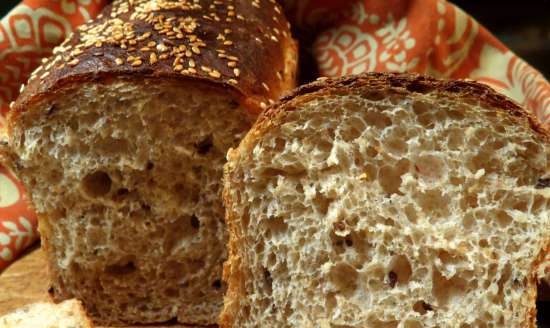
<svg viewBox="0 0 550 328">
<path fill-rule="evenodd" d="M 238 308 L 239 298 L 243 297 L 244 282 L 246 273 L 240 257 L 239 240 L 244 235 L 243 231 L 238 231 L 239 225 L 232 213 L 231 197 L 229 197 L 229 188 L 239 188 L 237 181 L 232 181 L 232 171 L 238 165 L 241 157 L 244 154 L 249 154 L 259 142 L 262 135 L 267 130 L 273 128 L 274 125 L 279 125 L 284 120 L 285 113 L 299 110 L 299 108 L 314 99 L 330 97 L 339 94 L 364 94 L 380 92 L 411 94 L 414 93 L 435 93 L 441 97 L 454 98 L 466 103 L 479 103 L 481 106 L 491 108 L 510 115 L 516 119 L 518 124 L 523 124 L 536 133 L 540 134 L 546 142 L 550 141 L 550 132 L 542 127 L 536 117 L 523 109 L 521 106 L 503 96 L 488 86 L 483 84 L 464 81 L 464 80 L 441 80 L 432 77 L 417 75 L 417 74 L 399 74 L 399 73 L 366 73 L 362 75 L 349 76 L 336 79 L 319 79 L 310 84 L 303 85 L 281 100 L 265 110 L 252 129 L 247 133 L 241 141 L 239 147 L 230 150 L 228 153 L 228 163 L 225 165 L 224 171 L 224 204 L 226 206 L 226 222 L 229 227 L 229 257 L 225 265 L 224 280 L 228 283 L 226 299 L 224 302 L 224 310 L 220 315 L 220 327 L 233 327 L 233 311 Z M 543 255 L 550 251 L 550 240 L 545 243 L 546 247 L 541 252 L 540 259 L 533 263 L 531 268 L 532 279 L 529 280 L 528 295 L 526 299 L 532 307 L 527 313 L 524 327 L 535 328 L 536 322 L 536 307 L 535 301 L 537 297 L 536 290 L 536 269 Z"/>
</svg>

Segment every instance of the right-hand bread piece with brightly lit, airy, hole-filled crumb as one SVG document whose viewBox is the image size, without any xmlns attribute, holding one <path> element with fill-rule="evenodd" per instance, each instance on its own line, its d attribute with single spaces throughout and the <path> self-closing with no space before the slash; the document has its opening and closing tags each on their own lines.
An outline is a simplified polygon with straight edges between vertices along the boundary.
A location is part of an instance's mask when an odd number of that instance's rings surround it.
<svg viewBox="0 0 550 328">
<path fill-rule="evenodd" d="M 222 327 L 535 327 L 548 140 L 474 82 L 298 89 L 228 155 Z"/>
</svg>

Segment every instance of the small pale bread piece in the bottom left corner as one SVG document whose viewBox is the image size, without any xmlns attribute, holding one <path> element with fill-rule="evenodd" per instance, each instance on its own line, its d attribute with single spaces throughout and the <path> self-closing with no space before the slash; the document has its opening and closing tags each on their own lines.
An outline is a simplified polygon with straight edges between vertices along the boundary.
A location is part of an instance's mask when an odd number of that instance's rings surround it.
<svg viewBox="0 0 550 328">
<path fill-rule="evenodd" d="M 92 328 L 80 301 L 34 303 L 0 317 L 0 328 Z"/>
</svg>

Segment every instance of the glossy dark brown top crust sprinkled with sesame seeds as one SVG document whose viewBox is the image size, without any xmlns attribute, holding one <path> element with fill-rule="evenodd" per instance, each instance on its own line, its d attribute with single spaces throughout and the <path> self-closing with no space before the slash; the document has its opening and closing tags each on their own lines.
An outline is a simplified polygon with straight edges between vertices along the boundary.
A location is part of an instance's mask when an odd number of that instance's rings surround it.
<svg viewBox="0 0 550 328">
<path fill-rule="evenodd" d="M 275 0 L 115 0 L 54 49 L 12 112 L 63 85 L 116 75 L 212 82 L 257 113 L 293 87 L 295 52 Z"/>
</svg>

